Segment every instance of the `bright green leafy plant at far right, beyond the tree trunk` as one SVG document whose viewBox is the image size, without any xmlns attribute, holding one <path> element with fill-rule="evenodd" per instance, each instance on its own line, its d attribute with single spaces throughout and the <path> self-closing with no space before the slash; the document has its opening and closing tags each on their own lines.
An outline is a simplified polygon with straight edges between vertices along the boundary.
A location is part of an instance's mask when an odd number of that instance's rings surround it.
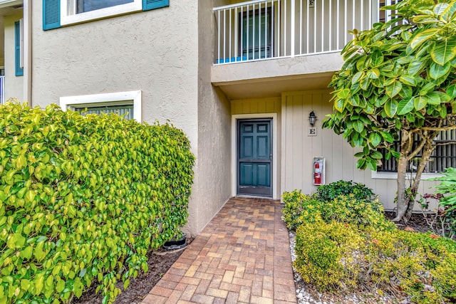
<svg viewBox="0 0 456 304">
<path fill-rule="evenodd" d="M 442 173 L 442 177 L 437 177 L 435 180 L 441 181 L 437 187 L 437 193 L 444 194 L 440 199 L 442 213 L 445 214 L 445 221 L 452 235 L 456 235 L 456 168 L 447 168 Z"/>
</svg>

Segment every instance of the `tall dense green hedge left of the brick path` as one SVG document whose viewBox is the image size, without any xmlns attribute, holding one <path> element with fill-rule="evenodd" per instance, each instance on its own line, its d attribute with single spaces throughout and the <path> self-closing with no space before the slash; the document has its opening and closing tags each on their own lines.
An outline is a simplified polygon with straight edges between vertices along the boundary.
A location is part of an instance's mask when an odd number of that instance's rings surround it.
<svg viewBox="0 0 456 304">
<path fill-rule="evenodd" d="M 117 115 L 0 106 L 0 303 L 66 303 L 147 271 L 180 232 L 195 162 L 184 133 Z"/>
</svg>

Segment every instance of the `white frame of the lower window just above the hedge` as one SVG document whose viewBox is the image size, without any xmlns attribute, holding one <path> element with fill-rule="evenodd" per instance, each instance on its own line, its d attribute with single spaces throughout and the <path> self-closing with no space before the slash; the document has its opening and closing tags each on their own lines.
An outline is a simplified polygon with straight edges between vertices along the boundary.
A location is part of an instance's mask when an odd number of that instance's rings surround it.
<svg viewBox="0 0 456 304">
<path fill-rule="evenodd" d="M 108 105 L 133 105 L 133 119 L 142 122 L 141 104 L 142 94 L 140 90 L 102 93 L 91 95 L 65 96 L 60 98 L 62 110 L 74 110 L 75 108 L 98 107 L 100 103 Z"/>
</svg>

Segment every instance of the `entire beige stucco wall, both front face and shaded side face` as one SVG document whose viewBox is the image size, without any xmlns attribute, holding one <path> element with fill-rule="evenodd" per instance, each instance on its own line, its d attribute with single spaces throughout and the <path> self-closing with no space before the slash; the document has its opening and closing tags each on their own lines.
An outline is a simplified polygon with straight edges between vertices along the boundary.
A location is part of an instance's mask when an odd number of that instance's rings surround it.
<svg viewBox="0 0 456 304">
<path fill-rule="evenodd" d="M 210 2 L 170 1 L 51 31 L 33 4 L 33 105 L 141 90 L 143 121 L 170 121 L 190 138 L 197 162 L 185 231 L 199 233 L 229 199 L 231 176 L 229 102 L 210 83 Z"/>
</svg>

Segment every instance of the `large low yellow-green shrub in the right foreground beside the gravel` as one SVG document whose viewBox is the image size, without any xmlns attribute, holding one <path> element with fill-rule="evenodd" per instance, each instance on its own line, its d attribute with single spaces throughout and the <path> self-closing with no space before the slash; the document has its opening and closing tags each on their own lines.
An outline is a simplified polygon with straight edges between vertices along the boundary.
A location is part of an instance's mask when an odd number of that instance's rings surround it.
<svg viewBox="0 0 456 304">
<path fill-rule="evenodd" d="M 296 230 L 296 271 L 321 290 L 361 288 L 414 303 L 454 303 L 455 242 L 434 234 L 317 220 Z"/>
</svg>

